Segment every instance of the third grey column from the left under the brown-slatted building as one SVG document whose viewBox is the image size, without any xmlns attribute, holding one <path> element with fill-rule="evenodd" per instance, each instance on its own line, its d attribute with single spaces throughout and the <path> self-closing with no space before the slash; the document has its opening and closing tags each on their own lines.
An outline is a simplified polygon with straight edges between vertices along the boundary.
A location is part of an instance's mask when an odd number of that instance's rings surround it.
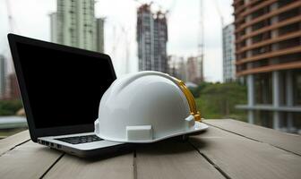
<svg viewBox="0 0 301 179">
<path fill-rule="evenodd" d="M 294 105 L 294 100 L 293 100 L 293 75 L 292 71 L 288 70 L 286 73 L 286 99 L 287 99 L 287 106 L 288 107 L 293 107 Z M 288 112 L 288 125 L 287 128 L 289 131 L 294 130 L 293 129 L 294 124 L 293 124 L 293 114 L 292 112 Z"/>
</svg>

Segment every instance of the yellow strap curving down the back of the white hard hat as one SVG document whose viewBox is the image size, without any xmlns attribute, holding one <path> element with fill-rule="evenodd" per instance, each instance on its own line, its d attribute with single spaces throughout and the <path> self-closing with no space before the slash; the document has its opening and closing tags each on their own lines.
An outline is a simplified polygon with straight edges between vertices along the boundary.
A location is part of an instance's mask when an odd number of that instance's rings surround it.
<svg viewBox="0 0 301 179">
<path fill-rule="evenodd" d="M 197 111 L 197 109 L 196 109 L 193 94 L 185 86 L 184 81 L 180 81 L 180 80 L 176 79 L 175 77 L 174 77 L 174 79 L 176 80 L 178 86 L 180 87 L 182 92 L 185 94 L 185 97 L 187 98 L 189 108 L 190 108 L 190 114 L 193 115 L 195 121 L 201 121 L 201 113 L 199 111 Z"/>
</svg>

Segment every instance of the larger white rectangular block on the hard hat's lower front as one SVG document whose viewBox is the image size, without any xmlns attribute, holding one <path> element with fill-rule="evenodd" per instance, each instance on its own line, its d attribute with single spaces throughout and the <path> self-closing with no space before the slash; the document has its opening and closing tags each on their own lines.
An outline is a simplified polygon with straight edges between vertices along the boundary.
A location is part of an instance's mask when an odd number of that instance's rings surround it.
<svg viewBox="0 0 301 179">
<path fill-rule="evenodd" d="M 151 125 L 126 126 L 126 137 L 128 141 L 152 140 Z"/>
</svg>

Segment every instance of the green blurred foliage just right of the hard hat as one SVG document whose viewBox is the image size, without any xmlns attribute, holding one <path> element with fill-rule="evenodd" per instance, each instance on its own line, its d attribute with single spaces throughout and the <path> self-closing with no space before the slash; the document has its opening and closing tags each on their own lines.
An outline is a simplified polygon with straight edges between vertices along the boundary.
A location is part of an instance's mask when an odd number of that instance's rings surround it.
<svg viewBox="0 0 301 179">
<path fill-rule="evenodd" d="M 193 89 L 192 93 L 202 117 L 207 119 L 234 118 L 245 121 L 245 112 L 235 107 L 246 103 L 245 86 L 236 82 L 204 82 L 198 88 Z"/>
</svg>

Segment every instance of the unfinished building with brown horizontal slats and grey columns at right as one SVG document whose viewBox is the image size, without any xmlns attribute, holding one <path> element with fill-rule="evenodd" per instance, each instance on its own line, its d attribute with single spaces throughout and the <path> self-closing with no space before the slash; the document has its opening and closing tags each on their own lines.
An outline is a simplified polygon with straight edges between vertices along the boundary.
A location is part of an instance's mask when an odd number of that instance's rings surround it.
<svg viewBox="0 0 301 179">
<path fill-rule="evenodd" d="M 236 76 L 247 84 L 248 122 L 301 128 L 301 1 L 234 0 Z"/>
</svg>

